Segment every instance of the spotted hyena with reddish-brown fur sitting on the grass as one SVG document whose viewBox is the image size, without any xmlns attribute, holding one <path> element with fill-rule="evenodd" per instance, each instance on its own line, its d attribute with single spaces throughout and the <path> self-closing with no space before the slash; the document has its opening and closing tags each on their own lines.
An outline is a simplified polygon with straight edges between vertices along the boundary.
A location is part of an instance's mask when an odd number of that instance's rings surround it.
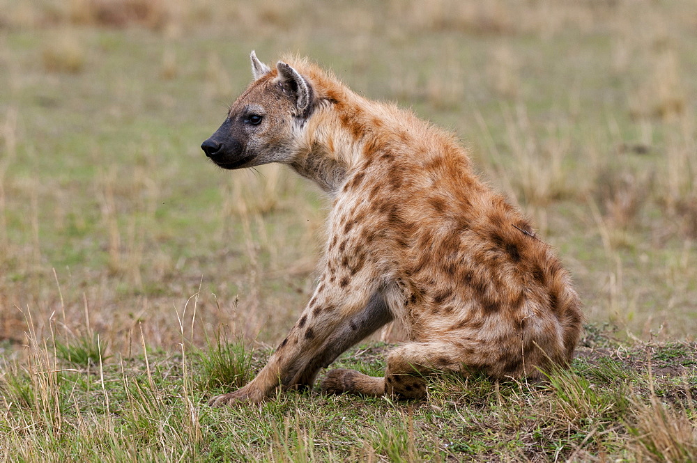
<svg viewBox="0 0 697 463">
<path fill-rule="evenodd" d="M 306 59 L 254 81 L 201 145 L 218 166 L 280 162 L 332 200 L 319 282 L 250 384 L 212 405 L 312 386 L 321 368 L 397 320 L 408 343 L 384 377 L 330 370 L 329 393 L 421 398 L 432 371 L 539 377 L 567 366 L 583 315 L 569 274 L 530 222 L 477 178 L 454 136 L 356 95 Z"/>
</svg>

